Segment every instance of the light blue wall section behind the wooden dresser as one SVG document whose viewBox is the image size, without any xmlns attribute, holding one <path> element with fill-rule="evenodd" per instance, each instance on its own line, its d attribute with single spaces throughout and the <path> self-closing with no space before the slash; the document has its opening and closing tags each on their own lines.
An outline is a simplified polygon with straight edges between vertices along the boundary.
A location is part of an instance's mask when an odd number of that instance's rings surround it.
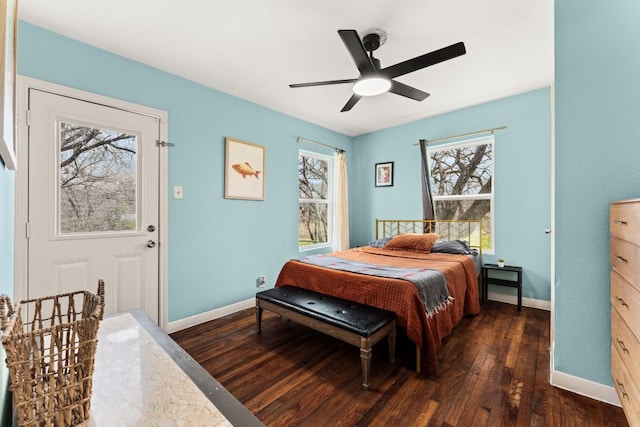
<svg viewBox="0 0 640 427">
<path fill-rule="evenodd" d="M 557 371 L 611 384 L 609 202 L 640 197 L 640 3 L 556 0 Z"/>
</svg>

